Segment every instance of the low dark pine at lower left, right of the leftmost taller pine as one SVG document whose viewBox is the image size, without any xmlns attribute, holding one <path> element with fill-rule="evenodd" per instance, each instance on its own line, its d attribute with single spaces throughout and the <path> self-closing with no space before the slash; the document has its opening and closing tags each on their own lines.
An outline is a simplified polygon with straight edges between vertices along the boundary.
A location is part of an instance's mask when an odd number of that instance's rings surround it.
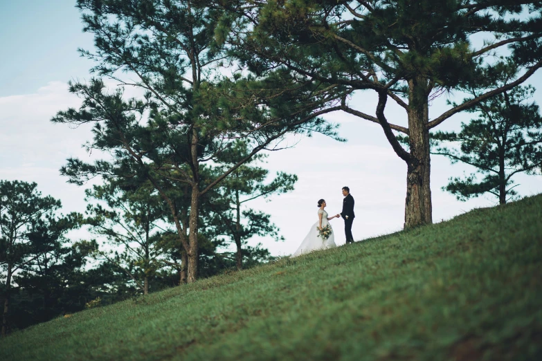
<svg viewBox="0 0 542 361">
<path fill-rule="evenodd" d="M 66 232 L 72 228 L 69 223 L 75 221 L 70 218 L 33 230 L 33 241 L 39 239 L 42 251 L 13 276 L 18 292 L 11 295 L 11 329 L 82 311 L 87 302 L 102 295 L 96 288 L 102 286 L 103 278 L 90 277 L 94 272 L 87 268 L 89 255 L 98 245 L 66 238 Z"/>
</svg>

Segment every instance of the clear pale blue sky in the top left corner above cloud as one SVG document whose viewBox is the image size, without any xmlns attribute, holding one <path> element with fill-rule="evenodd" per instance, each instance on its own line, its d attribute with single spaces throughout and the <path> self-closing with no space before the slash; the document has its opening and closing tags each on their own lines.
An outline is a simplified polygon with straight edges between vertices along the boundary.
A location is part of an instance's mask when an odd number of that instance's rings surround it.
<svg viewBox="0 0 542 361">
<path fill-rule="evenodd" d="M 35 92 L 51 80 L 88 77 L 91 48 L 74 0 L 0 1 L 0 96 Z"/>
</svg>

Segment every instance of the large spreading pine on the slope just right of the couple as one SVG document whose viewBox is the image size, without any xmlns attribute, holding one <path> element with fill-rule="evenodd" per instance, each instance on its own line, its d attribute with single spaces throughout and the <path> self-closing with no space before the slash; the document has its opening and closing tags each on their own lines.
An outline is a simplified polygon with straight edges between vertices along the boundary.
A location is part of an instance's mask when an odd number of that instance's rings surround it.
<svg viewBox="0 0 542 361">
<path fill-rule="evenodd" d="M 541 10 L 539 1 L 516 0 L 228 1 L 221 24 L 235 31 L 218 38 L 254 73 L 283 69 L 298 84 L 320 82 L 341 96 L 342 111 L 380 124 L 407 165 L 410 228 L 432 223 L 429 131 L 542 66 Z M 518 73 L 496 84 L 510 59 Z M 484 91 L 429 119 L 431 99 L 472 88 Z M 378 95 L 374 115 L 349 104 L 360 91 Z M 408 127 L 388 122 L 389 99 L 404 109 Z M 408 151 L 394 131 L 408 136 Z"/>
</svg>

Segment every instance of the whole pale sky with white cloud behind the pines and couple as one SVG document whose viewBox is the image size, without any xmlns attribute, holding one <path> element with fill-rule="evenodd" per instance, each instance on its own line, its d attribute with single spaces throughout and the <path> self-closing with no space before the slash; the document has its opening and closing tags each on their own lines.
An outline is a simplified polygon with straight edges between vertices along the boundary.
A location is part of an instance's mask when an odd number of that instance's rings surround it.
<svg viewBox="0 0 542 361">
<path fill-rule="evenodd" d="M 77 49 L 92 50 L 93 38 L 82 33 L 80 13 L 73 0 L 0 1 L 0 179 L 36 182 L 42 194 L 62 201 L 63 212 L 84 212 L 84 189 L 66 183 L 59 169 L 66 158 L 92 160 L 82 145 L 91 139 L 89 127 L 72 129 L 51 123 L 57 111 L 77 107 L 80 99 L 69 93 L 69 80 L 89 80 L 89 60 Z M 530 83 L 539 86 L 541 73 Z M 542 89 L 541 89 L 542 90 Z M 129 90 L 127 90 L 129 92 Z M 458 94 L 443 95 L 431 103 L 430 118 L 448 109 L 446 99 L 460 100 Z M 536 93 L 536 102 L 542 95 Z M 350 106 L 374 114 L 376 98 L 360 93 Z M 386 116 L 395 124 L 406 124 L 406 113 L 390 100 Z M 258 199 L 251 207 L 271 214 L 271 220 L 286 239 L 253 239 L 262 242 L 273 255 L 293 253 L 317 217 L 317 201 L 327 201 L 330 215 L 341 212 L 341 188 L 350 187 L 356 201 L 352 232 L 356 241 L 395 232 L 404 223 L 406 164 L 394 153 L 378 124 L 335 112 L 325 118 L 340 125 L 337 142 L 315 134 L 311 138 L 288 138 L 289 149 L 269 153 L 265 167 L 275 172 L 298 175 L 296 189 L 289 194 Z M 437 129 L 458 130 L 469 114 L 454 115 Z M 493 196 L 460 202 L 442 191 L 451 176 L 471 172 L 467 166 L 451 165 L 442 156 L 431 160 L 433 221 L 451 219 L 476 207 L 497 204 Z M 541 176 L 518 175 L 521 196 L 542 192 Z M 345 243 L 343 221 L 331 221 L 336 243 Z M 85 237 L 82 232 L 74 237 Z"/>
</svg>

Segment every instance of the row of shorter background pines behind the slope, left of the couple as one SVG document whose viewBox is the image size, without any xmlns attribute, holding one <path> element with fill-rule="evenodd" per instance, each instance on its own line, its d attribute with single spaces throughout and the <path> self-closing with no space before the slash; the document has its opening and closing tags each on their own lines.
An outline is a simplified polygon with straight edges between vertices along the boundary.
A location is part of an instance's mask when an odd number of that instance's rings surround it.
<svg viewBox="0 0 542 361">
<path fill-rule="evenodd" d="M 236 145 L 229 156 L 245 151 L 242 141 Z M 255 235 L 282 240 L 269 214 L 252 209 L 250 202 L 289 192 L 297 177 L 278 173 L 270 180 L 267 169 L 255 164 L 261 158 L 238 167 L 201 201 L 198 277 L 273 259 L 261 243 L 247 245 Z M 169 197 L 180 222 L 188 223 L 190 188 Z M 186 283 L 186 251 L 167 204 L 152 185 L 111 178 L 87 189 L 85 200 L 84 214 L 63 215 L 60 201 L 42 196 L 36 183 L 0 181 L 4 335 Z M 74 239 L 73 230 L 87 230 L 89 237 Z"/>
</svg>

